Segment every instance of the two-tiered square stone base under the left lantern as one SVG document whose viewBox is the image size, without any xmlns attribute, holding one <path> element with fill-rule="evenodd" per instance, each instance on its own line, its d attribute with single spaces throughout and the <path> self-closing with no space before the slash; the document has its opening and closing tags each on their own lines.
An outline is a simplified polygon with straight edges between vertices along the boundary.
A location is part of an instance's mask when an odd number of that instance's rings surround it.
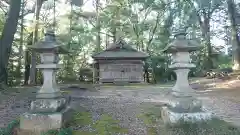
<svg viewBox="0 0 240 135">
<path fill-rule="evenodd" d="M 41 135 L 64 127 L 73 114 L 67 102 L 64 98 L 33 101 L 31 110 L 20 116 L 19 134 Z"/>
</svg>

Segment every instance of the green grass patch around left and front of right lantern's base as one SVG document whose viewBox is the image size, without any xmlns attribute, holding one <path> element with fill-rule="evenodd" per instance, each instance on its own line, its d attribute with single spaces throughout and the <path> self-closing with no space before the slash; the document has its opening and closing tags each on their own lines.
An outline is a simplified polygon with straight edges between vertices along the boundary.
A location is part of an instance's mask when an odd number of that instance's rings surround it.
<svg viewBox="0 0 240 135">
<path fill-rule="evenodd" d="M 197 123 L 180 121 L 178 126 L 170 127 L 163 124 L 160 109 L 158 105 L 145 104 L 138 115 L 146 125 L 148 135 L 240 135 L 240 128 L 219 119 Z"/>
</svg>

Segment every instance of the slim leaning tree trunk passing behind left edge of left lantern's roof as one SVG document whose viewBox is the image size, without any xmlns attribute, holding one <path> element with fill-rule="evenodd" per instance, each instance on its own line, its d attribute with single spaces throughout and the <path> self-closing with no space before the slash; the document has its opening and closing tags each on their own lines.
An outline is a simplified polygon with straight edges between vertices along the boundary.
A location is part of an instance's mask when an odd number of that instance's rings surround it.
<svg viewBox="0 0 240 135">
<path fill-rule="evenodd" d="M 40 10 L 42 7 L 44 0 L 37 0 L 36 3 L 36 9 L 35 9 L 35 19 L 34 19 L 34 33 L 33 33 L 33 45 L 37 42 L 38 40 L 38 25 L 39 25 L 39 16 L 40 16 Z M 31 69 L 30 69 L 30 84 L 31 85 L 36 85 L 36 61 L 37 61 L 37 54 L 36 52 L 32 51 L 32 58 L 31 58 Z"/>
</svg>

